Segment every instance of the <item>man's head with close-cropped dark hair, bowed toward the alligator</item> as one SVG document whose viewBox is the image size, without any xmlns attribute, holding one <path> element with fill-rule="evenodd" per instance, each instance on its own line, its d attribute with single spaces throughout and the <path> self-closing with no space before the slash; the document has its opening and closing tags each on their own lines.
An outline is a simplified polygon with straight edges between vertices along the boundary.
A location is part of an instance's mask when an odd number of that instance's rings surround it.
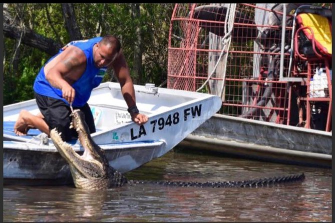
<svg viewBox="0 0 335 223">
<path fill-rule="evenodd" d="M 97 67 L 110 65 L 121 49 L 121 43 L 113 35 L 106 35 L 93 47 L 93 59 Z"/>
</svg>

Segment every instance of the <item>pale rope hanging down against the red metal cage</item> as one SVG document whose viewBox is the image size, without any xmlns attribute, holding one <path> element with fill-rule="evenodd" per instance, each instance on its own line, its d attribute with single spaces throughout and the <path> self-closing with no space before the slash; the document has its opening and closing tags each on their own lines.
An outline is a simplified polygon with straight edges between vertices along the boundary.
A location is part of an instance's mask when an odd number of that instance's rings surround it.
<svg viewBox="0 0 335 223">
<path fill-rule="evenodd" d="M 221 61 L 222 56 L 225 54 L 227 55 L 226 52 L 228 52 L 228 49 L 230 47 L 230 42 L 231 42 L 231 32 L 233 30 L 234 27 L 234 19 L 235 19 L 235 10 L 236 10 L 236 4 L 230 4 L 230 6 L 227 8 L 227 14 L 225 17 L 225 21 L 224 21 L 224 32 L 225 35 L 222 37 L 221 41 L 223 44 L 220 56 L 211 72 L 211 74 L 208 76 L 208 78 L 206 79 L 206 81 L 201 85 L 201 87 L 199 87 L 196 92 L 198 92 L 199 90 L 201 90 L 209 81 L 210 78 L 212 78 L 217 65 L 219 64 L 219 62 Z M 229 18 L 229 20 L 228 20 Z M 228 24 L 228 25 L 227 25 Z M 228 26 L 228 27 L 227 27 Z M 225 76 L 226 76 L 226 67 L 227 67 L 227 56 L 224 58 L 225 59 L 225 63 L 224 63 L 224 68 L 223 68 L 223 83 L 222 86 L 224 86 L 225 83 Z M 222 87 L 223 89 L 223 87 Z M 221 90 L 220 94 L 222 95 L 223 90 Z"/>
</svg>

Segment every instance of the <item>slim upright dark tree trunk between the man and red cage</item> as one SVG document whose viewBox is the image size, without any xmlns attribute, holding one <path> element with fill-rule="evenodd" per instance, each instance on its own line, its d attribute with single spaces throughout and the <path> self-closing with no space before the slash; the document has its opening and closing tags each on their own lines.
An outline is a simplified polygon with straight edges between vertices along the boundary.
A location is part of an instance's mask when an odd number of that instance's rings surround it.
<svg viewBox="0 0 335 223">
<path fill-rule="evenodd" d="M 132 17 L 134 20 L 140 19 L 141 12 L 140 12 L 140 4 L 139 3 L 132 3 L 131 4 L 131 10 L 132 10 Z M 141 28 L 140 28 L 140 22 L 135 22 L 136 24 L 136 30 L 135 35 L 136 39 L 134 42 L 134 66 L 133 71 L 137 79 L 137 83 L 142 82 L 142 35 L 141 35 Z"/>
</svg>

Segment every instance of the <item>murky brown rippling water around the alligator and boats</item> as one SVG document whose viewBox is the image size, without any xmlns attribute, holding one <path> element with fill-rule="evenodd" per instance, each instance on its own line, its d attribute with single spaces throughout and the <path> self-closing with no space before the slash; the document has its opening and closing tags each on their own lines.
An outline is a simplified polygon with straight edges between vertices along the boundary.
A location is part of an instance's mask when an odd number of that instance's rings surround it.
<svg viewBox="0 0 335 223">
<path fill-rule="evenodd" d="M 227 181 L 304 172 L 259 188 L 4 186 L 4 221 L 331 221 L 331 169 L 169 152 L 128 179 Z"/>
</svg>

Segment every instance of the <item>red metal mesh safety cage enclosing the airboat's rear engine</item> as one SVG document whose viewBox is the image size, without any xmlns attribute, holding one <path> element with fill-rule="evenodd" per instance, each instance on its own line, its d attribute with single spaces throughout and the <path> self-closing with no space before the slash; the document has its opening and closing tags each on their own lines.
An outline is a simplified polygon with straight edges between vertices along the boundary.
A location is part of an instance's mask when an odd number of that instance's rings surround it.
<svg viewBox="0 0 335 223">
<path fill-rule="evenodd" d="M 305 61 L 292 48 L 301 5 L 176 4 L 167 87 L 219 95 L 222 114 L 301 124 L 294 89 L 306 92 L 308 75 L 296 72 Z"/>
</svg>

